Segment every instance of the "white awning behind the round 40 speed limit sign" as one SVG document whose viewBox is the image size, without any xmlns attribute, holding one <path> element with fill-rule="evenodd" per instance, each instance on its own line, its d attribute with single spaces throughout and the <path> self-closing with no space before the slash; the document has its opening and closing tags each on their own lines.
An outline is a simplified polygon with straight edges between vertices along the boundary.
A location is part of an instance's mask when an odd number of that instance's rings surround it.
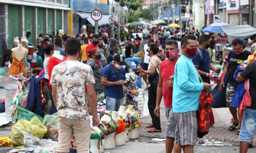
<svg viewBox="0 0 256 153">
<path fill-rule="evenodd" d="M 82 19 L 87 19 L 92 25 L 93 27 L 95 26 L 95 21 L 92 19 L 91 14 L 88 13 L 77 13 L 77 15 L 79 15 Z M 109 21 L 111 15 L 102 15 L 102 18 L 98 21 L 98 25 L 102 26 L 102 25 L 106 25 L 106 24 L 111 24 Z M 114 17 L 116 18 L 116 21 L 118 21 L 117 16 L 114 15 Z"/>
</svg>

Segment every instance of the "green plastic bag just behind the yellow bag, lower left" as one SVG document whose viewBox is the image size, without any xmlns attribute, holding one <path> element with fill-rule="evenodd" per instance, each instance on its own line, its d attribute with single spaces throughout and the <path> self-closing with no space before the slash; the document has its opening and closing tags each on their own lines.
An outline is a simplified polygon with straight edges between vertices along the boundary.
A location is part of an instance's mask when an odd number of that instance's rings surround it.
<svg viewBox="0 0 256 153">
<path fill-rule="evenodd" d="M 34 116 L 36 116 L 40 122 L 42 122 L 42 117 L 21 107 L 16 106 L 17 110 L 18 110 L 18 119 L 17 120 L 21 120 L 21 119 L 25 119 L 27 121 L 30 121 Z"/>
</svg>

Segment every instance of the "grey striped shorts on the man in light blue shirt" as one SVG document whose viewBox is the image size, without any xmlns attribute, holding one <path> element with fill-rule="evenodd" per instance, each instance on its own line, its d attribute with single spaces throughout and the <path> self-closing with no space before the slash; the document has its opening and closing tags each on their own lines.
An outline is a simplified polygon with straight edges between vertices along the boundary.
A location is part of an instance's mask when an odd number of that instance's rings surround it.
<svg viewBox="0 0 256 153">
<path fill-rule="evenodd" d="M 180 145 L 197 144 L 197 111 L 174 113 L 175 115 L 175 142 Z"/>
</svg>

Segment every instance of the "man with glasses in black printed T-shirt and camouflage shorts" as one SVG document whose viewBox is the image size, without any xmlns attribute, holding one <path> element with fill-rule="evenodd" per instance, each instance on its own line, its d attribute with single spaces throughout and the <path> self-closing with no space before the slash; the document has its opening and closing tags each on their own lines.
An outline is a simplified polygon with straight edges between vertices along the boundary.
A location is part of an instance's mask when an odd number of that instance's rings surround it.
<svg viewBox="0 0 256 153">
<path fill-rule="evenodd" d="M 236 72 L 237 67 L 240 64 L 242 64 L 245 60 L 247 60 L 249 55 L 251 55 L 249 51 L 243 49 L 243 41 L 238 38 L 232 41 L 232 47 L 233 47 L 233 50 L 228 55 L 227 65 L 223 70 L 223 74 L 222 74 L 222 78 L 219 86 L 219 90 L 222 90 L 222 88 L 225 86 L 224 79 L 228 73 L 226 100 L 227 100 L 227 107 L 229 108 L 229 111 L 232 114 L 233 121 L 234 121 L 232 125 L 228 127 L 229 131 L 234 131 L 236 127 L 239 125 L 237 108 L 230 106 L 232 97 L 234 95 L 234 91 L 236 91 L 236 85 L 237 85 L 237 81 L 234 80 L 233 75 L 234 75 L 234 72 Z"/>
</svg>

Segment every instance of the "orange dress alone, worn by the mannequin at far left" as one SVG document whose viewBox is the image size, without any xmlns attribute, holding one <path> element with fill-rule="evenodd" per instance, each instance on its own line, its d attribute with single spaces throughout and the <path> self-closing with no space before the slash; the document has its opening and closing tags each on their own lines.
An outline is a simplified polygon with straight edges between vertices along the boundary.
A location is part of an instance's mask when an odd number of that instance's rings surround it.
<svg viewBox="0 0 256 153">
<path fill-rule="evenodd" d="M 24 58 L 19 61 L 18 59 L 16 59 L 14 53 L 12 52 L 13 60 L 12 60 L 11 67 L 9 68 L 8 75 L 17 75 L 20 72 L 23 72 L 23 76 L 27 78 L 27 70 L 23 64 L 26 54 L 27 52 L 25 53 Z"/>
</svg>

